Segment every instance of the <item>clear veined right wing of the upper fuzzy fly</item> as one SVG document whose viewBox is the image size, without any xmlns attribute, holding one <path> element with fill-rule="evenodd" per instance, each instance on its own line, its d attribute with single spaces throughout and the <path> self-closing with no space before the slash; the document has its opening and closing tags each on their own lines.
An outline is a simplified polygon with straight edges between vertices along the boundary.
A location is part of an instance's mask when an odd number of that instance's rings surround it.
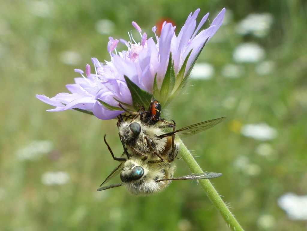
<svg viewBox="0 0 307 231">
<path fill-rule="evenodd" d="M 198 124 L 193 124 L 184 128 L 181 128 L 179 130 L 173 131 L 173 132 L 168 132 L 162 135 L 159 135 L 159 138 L 164 138 L 167 136 L 171 136 L 173 134 L 179 135 L 180 137 L 185 137 L 187 135 L 194 135 L 195 133 L 199 133 L 205 130 L 208 130 L 215 125 L 219 124 L 220 122 L 223 122 L 226 119 L 226 117 L 220 117 L 217 119 L 213 120 L 207 120 L 204 122 L 200 122 Z"/>
</svg>

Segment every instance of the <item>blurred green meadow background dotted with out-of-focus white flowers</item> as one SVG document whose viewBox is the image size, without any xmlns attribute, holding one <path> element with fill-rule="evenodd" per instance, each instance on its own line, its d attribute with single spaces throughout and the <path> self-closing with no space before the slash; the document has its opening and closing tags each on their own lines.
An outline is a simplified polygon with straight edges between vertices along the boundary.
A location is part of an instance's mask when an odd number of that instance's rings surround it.
<svg viewBox="0 0 307 231">
<path fill-rule="evenodd" d="M 1 1 L 0 230 L 229 230 L 196 181 L 143 198 L 124 187 L 97 192 L 118 164 L 105 133 L 122 153 L 116 121 L 46 112 L 52 106 L 35 98 L 67 92 L 79 77 L 73 69 L 84 70 L 91 57 L 109 60 L 108 37 L 128 40 L 132 21 L 149 37 L 171 18 L 178 33 L 196 8 L 198 22 L 207 12 L 212 22 L 223 7 L 224 23 L 198 59 L 207 76 L 191 79 L 167 118 L 180 128 L 227 117 L 184 141 L 204 170 L 223 173 L 212 182 L 239 223 L 306 230 L 306 220 L 278 206 L 285 193 L 307 194 L 307 7 L 295 0 Z M 253 13 L 266 15 L 260 29 L 263 17 L 247 20 Z M 243 49 L 242 59 L 238 46 L 246 43 L 256 51 Z M 189 173 L 176 162 L 177 176 Z"/>
</svg>

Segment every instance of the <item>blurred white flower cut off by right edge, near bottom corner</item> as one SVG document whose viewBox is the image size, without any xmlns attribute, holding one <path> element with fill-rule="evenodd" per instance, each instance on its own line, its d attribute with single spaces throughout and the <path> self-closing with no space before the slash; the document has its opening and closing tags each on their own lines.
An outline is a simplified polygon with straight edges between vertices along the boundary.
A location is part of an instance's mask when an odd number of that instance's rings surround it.
<svg viewBox="0 0 307 231">
<path fill-rule="evenodd" d="M 279 197 L 278 205 L 286 211 L 291 220 L 307 220 L 307 195 L 286 193 Z"/>
</svg>

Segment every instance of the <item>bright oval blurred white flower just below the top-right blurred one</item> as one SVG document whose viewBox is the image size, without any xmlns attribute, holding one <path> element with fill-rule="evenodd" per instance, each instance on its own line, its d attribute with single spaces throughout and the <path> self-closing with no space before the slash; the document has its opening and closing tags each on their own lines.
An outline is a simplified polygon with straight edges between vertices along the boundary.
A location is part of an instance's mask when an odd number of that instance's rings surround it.
<svg viewBox="0 0 307 231">
<path fill-rule="evenodd" d="M 261 46 L 253 42 L 242 43 L 232 53 L 235 62 L 259 62 L 265 56 Z"/>
</svg>

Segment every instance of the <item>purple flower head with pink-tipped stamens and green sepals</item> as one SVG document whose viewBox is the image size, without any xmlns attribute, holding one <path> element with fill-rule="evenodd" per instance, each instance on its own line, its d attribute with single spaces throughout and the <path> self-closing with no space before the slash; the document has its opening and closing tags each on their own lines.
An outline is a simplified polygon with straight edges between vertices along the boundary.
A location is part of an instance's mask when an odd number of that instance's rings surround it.
<svg viewBox="0 0 307 231">
<path fill-rule="evenodd" d="M 127 110 L 138 110 L 139 106 L 148 107 L 154 97 L 164 107 L 185 85 L 198 55 L 221 26 L 225 14 L 223 8 L 212 24 L 199 32 L 209 15 L 206 14 L 196 28 L 199 11 L 197 9 L 188 16 L 178 36 L 175 27 L 165 22 L 160 37 L 156 35 L 154 26 L 154 38 L 147 39 L 140 26 L 132 22 L 140 34 L 140 42 L 134 40 L 131 32 L 128 33 L 128 42 L 110 37 L 107 50 L 111 61 L 100 63 L 92 58 L 95 73 L 91 74 L 87 64 L 86 76 L 82 70 L 75 69 L 82 77 L 75 78 L 75 84 L 66 86 L 72 94 L 36 97 L 56 107 L 48 111 L 74 109 L 94 114 L 99 119 L 112 119 L 123 113 L 119 103 Z M 127 50 L 117 52 L 119 41 L 127 46 Z"/>
</svg>

